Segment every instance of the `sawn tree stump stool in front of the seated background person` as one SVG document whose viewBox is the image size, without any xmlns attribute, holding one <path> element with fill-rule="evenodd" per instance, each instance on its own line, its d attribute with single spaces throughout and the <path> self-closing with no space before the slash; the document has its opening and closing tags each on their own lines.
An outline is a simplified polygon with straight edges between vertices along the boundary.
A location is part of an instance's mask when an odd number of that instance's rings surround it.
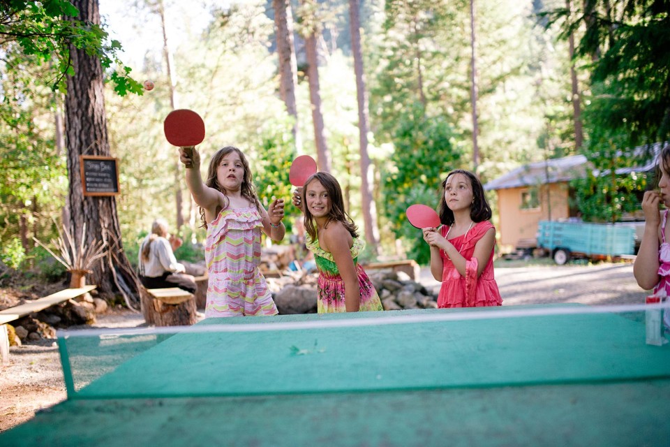
<svg viewBox="0 0 670 447">
<path fill-rule="evenodd" d="M 198 321 L 193 293 L 170 287 L 148 288 L 147 295 L 142 298 L 142 315 L 148 324 L 188 326 Z"/>
</svg>

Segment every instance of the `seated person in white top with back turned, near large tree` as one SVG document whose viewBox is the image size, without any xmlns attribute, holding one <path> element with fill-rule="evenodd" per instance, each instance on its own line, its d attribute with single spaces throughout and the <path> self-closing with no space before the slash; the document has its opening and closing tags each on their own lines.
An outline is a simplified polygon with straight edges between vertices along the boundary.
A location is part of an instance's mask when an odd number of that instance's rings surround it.
<svg viewBox="0 0 670 447">
<path fill-rule="evenodd" d="M 195 293 L 195 278 L 185 274 L 183 264 L 177 262 L 173 250 L 181 246 L 178 237 L 168 240 L 168 222 L 156 219 L 151 225 L 151 234 L 140 245 L 140 281 L 146 288 L 179 287 Z"/>
</svg>

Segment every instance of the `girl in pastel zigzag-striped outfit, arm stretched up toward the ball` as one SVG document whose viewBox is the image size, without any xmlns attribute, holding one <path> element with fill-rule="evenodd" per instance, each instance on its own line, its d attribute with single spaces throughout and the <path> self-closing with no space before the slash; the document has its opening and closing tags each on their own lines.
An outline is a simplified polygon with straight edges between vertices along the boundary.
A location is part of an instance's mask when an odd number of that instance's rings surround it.
<svg viewBox="0 0 670 447">
<path fill-rule="evenodd" d="M 246 157 L 237 147 L 219 149 L 209 161 L 207 180 L 200 177 L 200 154 L 189 157 L 179 149 L 186 166 L 186 184 L 200 206 L 207 228 L 204 246 L 209 287 L 204 316 L 276 315 L 277 307 L 258 270 L 260 233 L 282 240 L 283 200 L 268 210 L 260 204 Z M 192 164 L 191 164 L 192 163 Z"/>
</svg>

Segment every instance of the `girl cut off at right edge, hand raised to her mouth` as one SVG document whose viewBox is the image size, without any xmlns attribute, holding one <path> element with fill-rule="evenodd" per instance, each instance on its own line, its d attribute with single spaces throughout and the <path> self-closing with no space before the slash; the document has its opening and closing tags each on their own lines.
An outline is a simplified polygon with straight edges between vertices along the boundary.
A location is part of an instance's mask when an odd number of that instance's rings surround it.
<svg viewBox="0 0 670 447">
<path fill-rule="evenodd" d="M 668 210 L 659 212 L 660 205 L 670 207 L 670 145 L 661 149 L 657 166 L 658 190 L 646 191 L 642 198 L 644 233 L 633 264 L 637 284 L 653 288 L 653 297 L 664 302 L 670 296 L 670 230 L 667 226 Z M 664 310 L 664 333 L 670 335 L 670 312 Z"/>
</svg>

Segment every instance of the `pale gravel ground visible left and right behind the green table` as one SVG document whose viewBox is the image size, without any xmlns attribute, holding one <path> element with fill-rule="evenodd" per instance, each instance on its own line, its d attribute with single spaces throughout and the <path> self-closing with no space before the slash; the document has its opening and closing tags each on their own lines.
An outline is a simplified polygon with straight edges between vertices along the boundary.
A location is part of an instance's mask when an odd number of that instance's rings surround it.
<svg viewBox="0 0 670 447">
<path fill-rule="evenodd" d="M 560 267 L 512 265 L 516 264 L 496 266 L 496 281 L 503 305 L 641 303 L 646 295 L 635 283 L 631 263 Z M 440 283 L 433 279 L 427 268 L 422 269 L 419 281 L 433 291 L 440 288 Z M 140 314 L 114 309 L 98 315 L 94 327 L 132 328 L 143 324 Z M 66 398 L 59 354 L 53 340 L 12 347 L 10 361 L 0 366 L 0 372 L 0 431 L 29 420 L 36 411 Z"/>
</svg>

